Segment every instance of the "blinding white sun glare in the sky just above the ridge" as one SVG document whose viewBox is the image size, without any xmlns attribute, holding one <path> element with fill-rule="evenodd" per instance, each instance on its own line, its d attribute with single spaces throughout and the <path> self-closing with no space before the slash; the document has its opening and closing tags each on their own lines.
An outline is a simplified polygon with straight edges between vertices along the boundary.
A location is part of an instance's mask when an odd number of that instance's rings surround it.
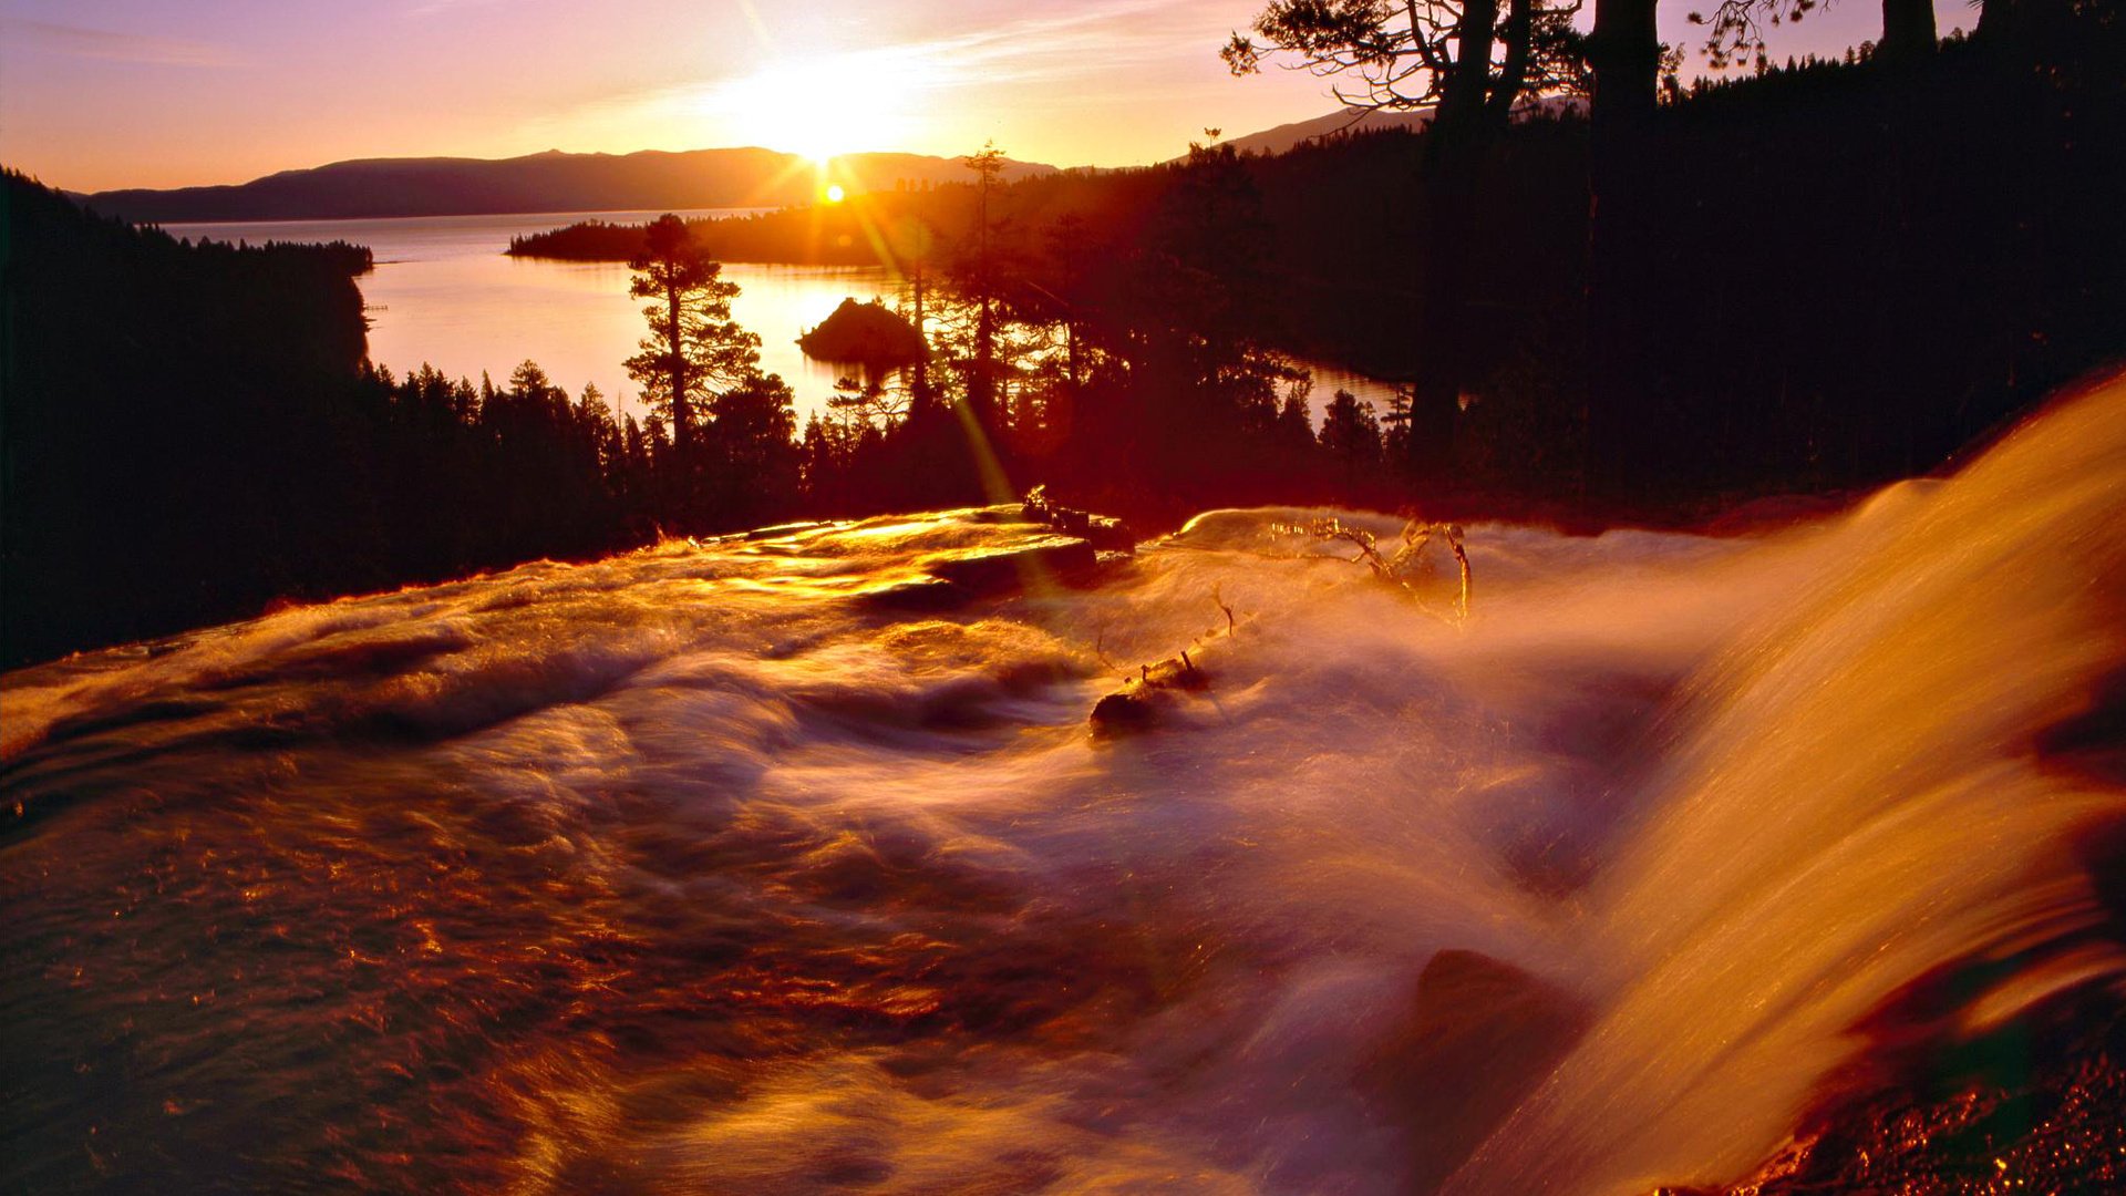
<svg viewBox="0 0 2126 1196">
<path fill-rule="evenodd" d="M 716 87 L 708 106 L 742 140 L 825 166 L 840 153 L 901 149 L 914 77 L 880 55 L 778 60 Z"/>
</svg>

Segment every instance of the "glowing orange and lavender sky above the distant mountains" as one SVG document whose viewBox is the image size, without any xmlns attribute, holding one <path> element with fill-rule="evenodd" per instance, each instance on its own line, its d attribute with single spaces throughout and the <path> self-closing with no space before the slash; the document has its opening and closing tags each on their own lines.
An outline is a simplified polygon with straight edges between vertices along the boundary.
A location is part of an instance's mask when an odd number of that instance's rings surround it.
<svg viewBox="0 0 2126 1196">
<path fill-rule="evenodd" d="M 1707 0 L 1709 2 L 1709 0 Z M 1697 45 L 1690 0 L 1663 36 Z M 0 164 L 45 183 L 240 183 L 347 157 L 765 145 L 1131 166 L 1335 111 L 1233 79 L 1259 0 L 0 0 Z M 1937 0 L 1941 32 L 1975 21 Z M 1837 0 L 1773 51 L 1843 51 Z M 1692 55 L 1692 66 L 1697 55 Z M 1686 74 L 1690 68 L 1686 68 Z"/>
</svg>

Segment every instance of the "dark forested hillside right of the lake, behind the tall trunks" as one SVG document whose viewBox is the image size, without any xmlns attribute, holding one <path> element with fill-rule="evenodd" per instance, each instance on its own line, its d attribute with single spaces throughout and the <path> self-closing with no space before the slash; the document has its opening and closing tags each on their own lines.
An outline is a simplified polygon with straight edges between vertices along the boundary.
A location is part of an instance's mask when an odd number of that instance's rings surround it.
<svg viewBox="0 0 2126 1196">
<path fill-rule="evenodd" d="M 1952 38 L 1918 64 L 1803 60 L 1663 104 L 1633 151 L 1643 211 L 1618 255 L 1635 283 L 1629 326 L 1609 336 L 1635 340 L 1624 355 L 1646 392 L 1643 426 L 1609 445 L 1631 477 L 1588 462 L 1588 121 L 1550 111 L 1503 130 L 1469 166 L 1463 240 L 1486 268 L 1458 279 L 1444 321 L 1461 402 L 1431 434 L 1461 443 L 1424 462 L 1452 477 L 1418 489 L 1582 500 L 1590 472 L 1609 472 L 1597 498 L 1658 517 L 1873 485 L 1939 466 L 2117 360 L 2126 234 L 2109 213 L 2126 202 L 2126 119 L 2107 64 L 2120 36 L 2094 19 L 2086 32 L 2043 68 L 2022 47 Z M 1424 134 L 1390 130 L 1010 183 L 993 226 L 1025 296 L 1012 315 L 1142 321 L 1123 311 L 1118 264 L 1161 251 L 1161 230 L 1197 204 L 1201 245 L 1180 258 L 1248 292 L 1231 334 L 1414 381 L 1427 230 L 1410 217 L 1429 168 Z M 689 228 L 733 262 L 876 264 L 880 236 L 910 262 L 897 234 L 963 240 L 974 206 L 969 183 Z M 510 251 L 621 262 L 640 238 L 576 223 Z"/>
</svg>

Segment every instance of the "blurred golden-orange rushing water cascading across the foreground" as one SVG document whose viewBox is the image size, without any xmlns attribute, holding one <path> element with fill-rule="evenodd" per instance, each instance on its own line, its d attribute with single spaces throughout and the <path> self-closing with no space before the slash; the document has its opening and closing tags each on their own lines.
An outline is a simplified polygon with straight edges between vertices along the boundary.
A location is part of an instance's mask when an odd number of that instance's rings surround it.
<svg viewBox="0 0 2126 1196">
<path fill-rule="evenodd" d="M 1648 1192 L 1916 981 L 1988 964 L 1941 1039 L 2120 987 L 2126 385 L 1775 534 L 1471 526 L 1467 619 L 1305 515 L 1091 577 L 1006 511 L 668 543 L 9 675 L 0 1185 Z"/>
</svg>

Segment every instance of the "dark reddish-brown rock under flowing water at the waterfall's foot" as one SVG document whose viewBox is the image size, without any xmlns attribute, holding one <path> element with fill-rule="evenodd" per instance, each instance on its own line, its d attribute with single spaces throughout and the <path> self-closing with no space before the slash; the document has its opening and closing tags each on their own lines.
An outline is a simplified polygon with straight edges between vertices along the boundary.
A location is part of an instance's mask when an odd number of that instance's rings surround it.
<svg viewBox="0 0 2126 1196">
<path fill-rule="evenodd" d="M 1410 1015 L 1361 1085 L 1410 1126 L 1405 1192 L 1433 1192 L 1586 1034 L 1571 994 L 1514 964 L 1448 949 L 1424 964 Z"/>
</svg>

